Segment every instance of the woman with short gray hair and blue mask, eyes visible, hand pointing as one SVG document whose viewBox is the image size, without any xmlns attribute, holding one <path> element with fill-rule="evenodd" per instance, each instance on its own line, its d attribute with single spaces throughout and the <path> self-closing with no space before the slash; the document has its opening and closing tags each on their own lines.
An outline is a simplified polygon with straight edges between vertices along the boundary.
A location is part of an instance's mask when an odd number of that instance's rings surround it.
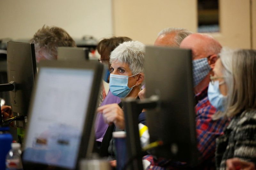
<svg viewBox="0 0 256 170">
<path fill-rule="evenodd" d="M 113 95 L 138 98 L 144 80 L 144 52 L 144 44 L 139 41 L 123 42 L 111 52 L 109 89 Z M 114 156 L 112 132 L 125 129 L 122 102 L 101 106 L 97 111 L 109 125 L 101 143 L 100 156 Z M 145 120 L 139 122 L 145 123 Z"/>
</svg>

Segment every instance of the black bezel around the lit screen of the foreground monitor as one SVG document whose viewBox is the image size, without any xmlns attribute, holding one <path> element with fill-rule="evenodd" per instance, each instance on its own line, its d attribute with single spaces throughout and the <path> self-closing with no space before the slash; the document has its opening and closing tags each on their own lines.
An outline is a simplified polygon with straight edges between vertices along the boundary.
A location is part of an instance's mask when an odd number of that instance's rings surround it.
<svg viewBox="0 0 256 170">
<path fill-rule="evenodd" d="M 98 107 L 98 96 L 100 95 L 100 85 L 101 85 L 101 79 L 102 79 L 102 71 L 103 71 L 103 65 L 100 64 L 97 61 L 84 61 L 84 62 L 70 62 L 70 61 L 42 61 L 40 62 L 39 72 L 40 68 L 70 68 L 70 69 L 89 69 L 94 70 L 94 76 L 93 76 L 93 82 L 92 82 L 92 88 L 88 103 L 88 108 L 86 111 L 85 116 L 85 122 L 84 122 L 84 128 L 83 128 L 83 134 L 80 141 L 79 146 L 79 153 L 77 155 L 76 160 L 76 167 L 75 169 L 79 169 L 79 159 L 88 157 L 92 152 L 93 142 L 94 142 L 94 131 L 93 131 L 93 122 L 95 120 L 95 112 L 96 108 Z M 38 78 L 36 78 L 36 82 Z M 79 83 L 79 82 L 74 82 Z M 36 97 L 36 88 L 37 85 L 35 85 L 35 88 L 33 89 L 32 98 L 31 98 L 31 106 L 33 106 L 34 99 Z M 32 107 L 29 108 L 28 117 L 30 117 Z M 29 122 L 28 122 L 29 127 Z M 25 137 L 25 143 L 26 143 L 27 137 Z M 26 151 L 25 151 L 26 152 Z M 23 159 L 23 167 L 24 169 L 51 169 L 51 170 L 70 170 L 69 168 L 63 168 L 58 166 L 52 166 L 52 165 L 45 165 L 41 163 L 35 163 L 30 161 L 25 161 Z"/>
</svg>

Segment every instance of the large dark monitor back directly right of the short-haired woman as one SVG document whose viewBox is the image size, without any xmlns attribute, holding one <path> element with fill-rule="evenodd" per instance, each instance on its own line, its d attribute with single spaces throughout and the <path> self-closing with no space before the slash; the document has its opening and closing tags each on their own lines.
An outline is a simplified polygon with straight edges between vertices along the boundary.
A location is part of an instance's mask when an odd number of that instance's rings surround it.
<svg viewBox="0 0 256 170">
<path fill-rule="evenodd" d="M 191 50 L 147 46 L 146 97 L 158 96 L 156 109 L 148 109 L 150 142 L 163 141 L 152 154 L 196 163 L 197 140 Z"/>
</svg>

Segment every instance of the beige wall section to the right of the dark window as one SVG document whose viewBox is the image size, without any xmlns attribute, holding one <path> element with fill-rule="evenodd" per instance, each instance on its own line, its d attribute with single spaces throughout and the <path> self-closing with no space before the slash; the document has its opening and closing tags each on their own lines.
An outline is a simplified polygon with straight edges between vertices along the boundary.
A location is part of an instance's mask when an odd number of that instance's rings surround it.
<svg viewBox="0 0 256 170">
<path fill-rule="evenodd" d="M 251 48 L 250 0 L 219 0 L 220 33 L 212 34 L 222 46 Z"/>
</svg>

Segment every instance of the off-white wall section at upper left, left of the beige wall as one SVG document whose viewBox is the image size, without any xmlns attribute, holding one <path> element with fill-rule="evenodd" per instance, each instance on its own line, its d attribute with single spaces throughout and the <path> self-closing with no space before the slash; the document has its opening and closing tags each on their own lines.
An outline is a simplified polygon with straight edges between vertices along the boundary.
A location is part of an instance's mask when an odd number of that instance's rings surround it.
<svg viewBox="0 0 256 170">
<path fill-rule="evenodd" d="M 32 38 L 44 24 L 73 38 L 111 36 L 111 0 L 0 0 L 0 39 Z"/>
</svg>

